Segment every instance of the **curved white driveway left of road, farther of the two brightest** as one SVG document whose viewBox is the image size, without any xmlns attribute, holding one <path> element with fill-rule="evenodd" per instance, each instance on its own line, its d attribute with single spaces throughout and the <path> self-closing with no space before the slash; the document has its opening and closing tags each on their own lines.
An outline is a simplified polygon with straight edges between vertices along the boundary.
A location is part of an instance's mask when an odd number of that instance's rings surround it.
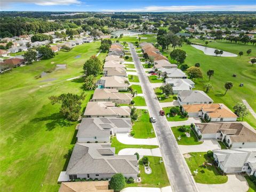
<svg viewBox="0 0 256 192">
<path fill-rule="evenodd" d="M 135 139 L 129 135 L 129 133 L 117 133 L 116 139 L 126 145 L 157 145 L 158 141 L 156 138 L 150 139 Z"/>
</svg>

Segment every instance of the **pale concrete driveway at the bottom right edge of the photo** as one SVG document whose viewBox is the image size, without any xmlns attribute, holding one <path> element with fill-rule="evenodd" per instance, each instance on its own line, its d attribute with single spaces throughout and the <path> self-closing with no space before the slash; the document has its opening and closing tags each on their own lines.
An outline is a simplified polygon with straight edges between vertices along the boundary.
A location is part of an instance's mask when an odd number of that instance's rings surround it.
<svg viewBox="0 0 256 192">
<path fill-rule="evenodd" d="M 223 184 L 196 183 L 200 192 L 245 192 L 249 189 L 246 179 L 241 174 L 228 175 L 228 181 Z"/>
</svg>

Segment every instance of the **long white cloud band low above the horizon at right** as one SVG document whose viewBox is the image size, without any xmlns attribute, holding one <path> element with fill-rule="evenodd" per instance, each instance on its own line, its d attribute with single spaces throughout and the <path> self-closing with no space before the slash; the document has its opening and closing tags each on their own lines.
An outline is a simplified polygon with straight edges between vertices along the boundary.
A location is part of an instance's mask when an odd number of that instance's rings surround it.
<svg viewBox="0 0 256 192">
<path fill-rule="evenodd" d="M 146 6 L 142 9 L 101 10 L 108 12 L 254 11 L 256 5 Z"/>
</svg>

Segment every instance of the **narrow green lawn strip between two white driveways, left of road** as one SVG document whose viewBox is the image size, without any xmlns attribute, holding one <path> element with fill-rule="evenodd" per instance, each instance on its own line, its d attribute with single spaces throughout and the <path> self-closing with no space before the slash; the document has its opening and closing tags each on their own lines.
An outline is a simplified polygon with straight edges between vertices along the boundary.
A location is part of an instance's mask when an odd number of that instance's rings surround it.
<svg viewBox="0 0 256 192">
<path fill-rule="evenodd" d="M 115 147 L 116 150 L 116 154 L 118 154 L 118 152 L 122 149 L 125 148 L 143 148 L 143 149 L 154 149 L 154 148 L 158 148 L 158 146 L 150 146 L 150 145 L 125 145 L 121 142 L 119 142 L 116 137 L 111 138 L 111 147 Z"/>
</svg>

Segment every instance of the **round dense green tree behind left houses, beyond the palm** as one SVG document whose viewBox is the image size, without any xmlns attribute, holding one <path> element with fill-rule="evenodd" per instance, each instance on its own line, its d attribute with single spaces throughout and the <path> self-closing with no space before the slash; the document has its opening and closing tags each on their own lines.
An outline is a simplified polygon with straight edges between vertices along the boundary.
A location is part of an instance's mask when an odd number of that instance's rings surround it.
<svg viewBox="0 0 256 192">
<path fill-rule="evenodd" d="M 102 70 L 102 64 L 96 56 L 92 56 L 89 60 L 84 63 L 84 73 L 86 76 L 96 76 Z"/>
</svg>

